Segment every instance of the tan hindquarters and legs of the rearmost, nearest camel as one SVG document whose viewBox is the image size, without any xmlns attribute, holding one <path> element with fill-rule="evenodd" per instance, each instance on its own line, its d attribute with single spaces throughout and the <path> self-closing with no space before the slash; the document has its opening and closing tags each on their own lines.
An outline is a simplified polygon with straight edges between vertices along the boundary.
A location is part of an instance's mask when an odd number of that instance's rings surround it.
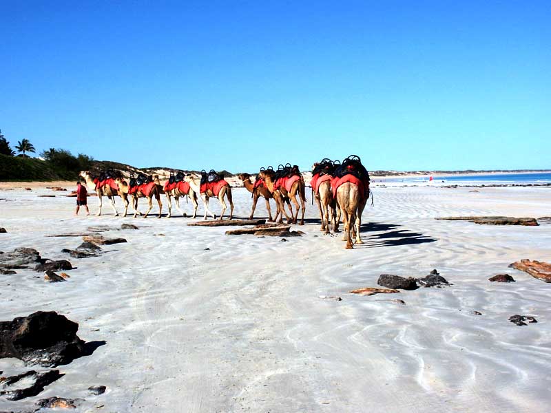
<svg viewBox="0 0 551 413">
<path fill-rule="evenodd" d="M 366 191 L 369 191 L 367 188 Z M 342 218 L 344 223 L 344 237 L 343 241 L 346 241 L 346 249 L 352 249 L 352 236 L 355 232 L 356 244 L 363 244 L 364 242 L 360 238 L 360 225 L 362 224 L 362 213 L 366 207 L 367 198 L 362 196 L 360 188 L 357 184 L 352 182 L 344 182 L 337 188 L 337 203 L 342 211 Z"/>
</svg>

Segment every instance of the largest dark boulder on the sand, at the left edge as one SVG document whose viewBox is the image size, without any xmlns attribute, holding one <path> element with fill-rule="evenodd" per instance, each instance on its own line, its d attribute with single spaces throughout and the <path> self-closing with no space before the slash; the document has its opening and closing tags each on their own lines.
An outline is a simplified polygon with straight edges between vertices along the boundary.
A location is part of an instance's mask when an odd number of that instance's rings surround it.
<svg viewBox="0 0 551 413">
<path fill-rule="evenodd" d="M 86 354 L 78 329 L 79 324 L 54 311 L 0 321 L 0 358 L 15 357 L 41 366 L 70 363 Z"/>
</svg>

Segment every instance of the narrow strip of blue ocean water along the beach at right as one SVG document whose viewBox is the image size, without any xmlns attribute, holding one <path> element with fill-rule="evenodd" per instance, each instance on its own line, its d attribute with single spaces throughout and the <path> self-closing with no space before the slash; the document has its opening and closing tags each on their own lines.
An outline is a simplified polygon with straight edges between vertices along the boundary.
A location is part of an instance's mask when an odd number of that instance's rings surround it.
<svg viewBox="0 0 551 413">
<path fill-rule="evenodd" d="M 429 176 L 415 178 L 378 178 L 375 182 L 402 182 L 404 184 L 428 184 Z M 433 175 L 431 184 L 551 184 L 551 173 L 492 173 L 487 175 L 446 176 Z"/>
</svg>

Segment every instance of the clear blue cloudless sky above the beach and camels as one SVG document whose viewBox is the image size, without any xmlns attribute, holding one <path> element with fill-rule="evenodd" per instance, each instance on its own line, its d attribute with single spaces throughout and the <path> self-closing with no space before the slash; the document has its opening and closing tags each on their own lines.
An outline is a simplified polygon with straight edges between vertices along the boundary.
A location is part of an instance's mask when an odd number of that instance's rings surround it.
<svg viewBox="0 0 551 413">
<path fill-rule="evenodd" d="M 551 1 L 0 1 L 0 129 L 138 167 L 547 169 L 550 22 Z"/>
</svg>

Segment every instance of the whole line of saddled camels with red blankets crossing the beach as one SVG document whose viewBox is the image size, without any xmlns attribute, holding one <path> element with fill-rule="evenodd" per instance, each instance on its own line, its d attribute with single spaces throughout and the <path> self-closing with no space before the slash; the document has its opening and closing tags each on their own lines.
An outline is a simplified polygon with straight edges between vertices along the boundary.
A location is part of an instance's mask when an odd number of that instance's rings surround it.
<svg viewBox="0 0 551 413">
<path fill-rule="evenodd" d="M 229 203 L 229 219 L 233 218 L 231 186 L 224 176 L 214 170 L 208 173 L 203 170 L 198 178 L 191 173 L 185 174 L 183 171 L 178 171 L 176 174 L 170 173 L 169 179 L 164 184 L 161 184 L 158 176 L 146 176 L 143 173 L 139 173 L 136 178 L 131 175 L 129 180 L 126 180 L 120 172 L 114 171 L 106 171 L 98 176 L 92 175 L 90 171 L 81 171 L 79 176 L 85 180 L 87 188 L 98 196 L 98 213 L 96 214 L 98 216 L 101 215 L 103 196 L 110 200 L 115 216 L 118 216 L 114 200 L 118 195 L 123 200 L 123 216 L 127 216 L 129 204 L 132 202 L 134 218 L 137 215 L 147 218 L 155 199 L 159 207 L 157 218 L 161 218 L 163 203 L 160 200 L 160 195 L 165 194 L 168 204 L 167 218 L 172 216 L 173 198 L 178 211 L 186 216 L 180 208 L 180 198 L 184 197 L 191 199 L 194 207 L 193 218 L 197 216 L 198 197 L 201 198 L 205 211 L 203 220 L 207 219 L 207 215 L 216 219 L 216 214 L 209 209 L 210 198 L 218 198 L 220 201 L 222 212 L 219 220 L 224 218 L 227 202 Z M 283 217 L 285 217 L 287 224 L 304 225 L 306 184 L 304 184 L 304 177 L 298 166 L 279 165 L 277 170 L 274 170 L 273 167 L 261 168 L 254 182 L 249 173 L 241 173 L 238 178 L 243 182 L 245 189 L 251 193 L 253 200 L 249 220 L 253 219 L 258 199 L 262 197 L 266 202 L 269 222 L 282 223 Z M 362 224 L 362 213 L 371 196 L 371 191 L 369 189 L 369 174 L 360 158 L 349 156 L 342 162 L 324 158 L 320 162 L 316 162 L 312 167 L 310 186 L 313 200 L 315 199 L 318 204 L 320 212 L 320 230 L 330 233 L 332 226 L 333 232 L 339 232 L 339 223 L 342 218 L 343 240 L 346 241 L 346 248 L 353 248 L 353 240 L 355 240 L 355 244 L 363 244 L 360 238 L 360 225 Z M 148 209 L 145 213 L 138 211 L 139 198 L 147 198 Z M 270 207 L 272 199 L 275 202 L 275 215 L 272 215 Z M 289 214 L 286 207 L 289 209 Z"/>
</svg>

